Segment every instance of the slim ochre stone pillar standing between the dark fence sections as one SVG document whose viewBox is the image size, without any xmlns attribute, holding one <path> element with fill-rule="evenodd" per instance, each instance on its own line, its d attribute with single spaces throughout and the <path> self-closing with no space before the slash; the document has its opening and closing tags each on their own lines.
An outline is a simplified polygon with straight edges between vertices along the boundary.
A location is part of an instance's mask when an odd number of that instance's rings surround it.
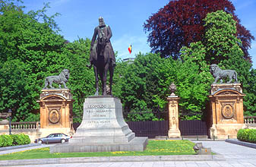
<svg viewBox="0 0 256 167">
<path fill-rule="evenodd" d="M 179 97 L 168 96 L 168 110 L 169 110 L 169 138 L 180 138 L 181 132 L 179 131 Z"/>
</svg>

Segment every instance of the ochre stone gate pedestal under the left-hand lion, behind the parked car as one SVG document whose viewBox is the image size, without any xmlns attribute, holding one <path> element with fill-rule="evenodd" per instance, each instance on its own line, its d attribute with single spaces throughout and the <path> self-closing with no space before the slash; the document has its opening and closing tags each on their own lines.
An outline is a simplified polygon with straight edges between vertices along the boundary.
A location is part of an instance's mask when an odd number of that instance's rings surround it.
<svg viewBox="0 0 256 167">
<path fill-rule="evenodd" d="M 72 95 L 67 89 L 42 90 L 40 94 L 40 133 L 46 137 L 52 133 L 74 134 Z"/>
</svg>

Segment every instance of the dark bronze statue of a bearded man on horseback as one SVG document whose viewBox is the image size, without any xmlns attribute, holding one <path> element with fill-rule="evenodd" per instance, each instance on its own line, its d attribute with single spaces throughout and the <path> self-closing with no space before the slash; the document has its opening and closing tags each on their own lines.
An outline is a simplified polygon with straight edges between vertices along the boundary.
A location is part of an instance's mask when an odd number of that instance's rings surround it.
<svg viewBox="0 0 256 167">
<path fill-rule="evenodd" d="M 93 66 L 95 80 L 96 80 L 96 93 L 99 96 L 99 77 L 102 83 L 103 96 L 106 96 L 106 76 L 109 71 L 109 94 L 112 95 L 112 77 L 115 68 L 115 53 L 110 43 L 112 31 L 108 25 L 105 24 L 103 17 L 99 18 L 99 26 L 94 29 L 93 39 L 90 45 L 90 65 Z"/>
</svg>

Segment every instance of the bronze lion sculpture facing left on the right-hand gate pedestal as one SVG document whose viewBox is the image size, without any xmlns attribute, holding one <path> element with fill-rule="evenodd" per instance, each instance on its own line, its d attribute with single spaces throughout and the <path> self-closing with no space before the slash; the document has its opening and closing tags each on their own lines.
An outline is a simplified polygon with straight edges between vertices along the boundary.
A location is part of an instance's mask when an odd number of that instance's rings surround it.
<svg viewBox="0 0 256 167">
<path fill-rule="evenodd" d="M 235 80 L 235 83 L 238 82 L 237 80 L 237 73 L 234 70 L 222 70 L 218 65 L 210 65 L 210 73 L 215 78 L 213 83 L 216 83 L 220 80 L 220 83 L 223 83 L 223 78 L 229 77 L 229 81 L 227 83 L 231 83 L 232 80 Z"/>
</svg>

